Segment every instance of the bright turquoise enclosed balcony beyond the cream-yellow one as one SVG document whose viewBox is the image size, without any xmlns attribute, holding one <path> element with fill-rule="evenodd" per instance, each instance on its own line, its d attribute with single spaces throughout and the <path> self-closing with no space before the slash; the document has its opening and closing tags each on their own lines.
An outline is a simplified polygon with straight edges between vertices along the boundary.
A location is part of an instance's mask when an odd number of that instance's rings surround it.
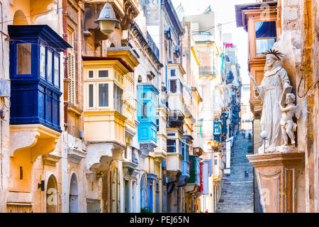
<svg viewBox="0 0 319 227">
<path fill-rule="evenodd" d="M 157 96 L 159 91 L 150 84 L 138 85 L 138 142 L 145 155 L 157 144 Z"/>
</svg>

